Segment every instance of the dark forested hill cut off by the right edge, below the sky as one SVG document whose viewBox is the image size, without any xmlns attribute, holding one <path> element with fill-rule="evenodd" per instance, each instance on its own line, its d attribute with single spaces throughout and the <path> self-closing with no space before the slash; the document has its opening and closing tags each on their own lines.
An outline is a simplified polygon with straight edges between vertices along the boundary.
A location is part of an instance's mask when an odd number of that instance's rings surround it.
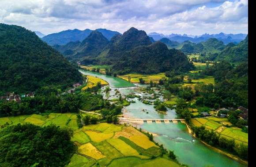
<svg viewBox="0 0 256 167">
<path fill-rule="evenodd" d="M 248 35 L 245 40 L 239 44 L 228 44 L 225 49 L 219 53 L 217 61 L 226 60 L 229 62 L 248 62 Z"/>
</svg>

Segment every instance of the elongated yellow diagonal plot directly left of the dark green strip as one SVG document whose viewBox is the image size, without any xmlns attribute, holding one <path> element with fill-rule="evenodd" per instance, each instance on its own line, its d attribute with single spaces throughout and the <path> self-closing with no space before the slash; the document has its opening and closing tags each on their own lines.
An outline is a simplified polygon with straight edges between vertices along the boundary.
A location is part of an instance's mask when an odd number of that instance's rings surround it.
<svg viewBox="0 0 256 167">
<path fill-rule="evenodd" d="M 119 150 L 124 156 L 138 156 L 140 158 L 148 158 L 147 156 L 139 155 L 139 152 L 118 138 L 108 139 L 107 142 Z"/>
</svg>

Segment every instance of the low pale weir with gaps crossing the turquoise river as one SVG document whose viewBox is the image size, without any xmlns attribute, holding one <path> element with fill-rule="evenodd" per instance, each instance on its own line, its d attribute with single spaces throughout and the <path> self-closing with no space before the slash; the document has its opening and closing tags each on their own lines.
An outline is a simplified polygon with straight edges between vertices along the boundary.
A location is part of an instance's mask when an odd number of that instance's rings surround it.
<svg viewBox="0 0 256 167">
<path fill-rule="evenodd" d="M 132 122 L 132 123 L 185 123 L 185 119 L 133 119 L 118 117 L 120 121 Z"/>
</svg>

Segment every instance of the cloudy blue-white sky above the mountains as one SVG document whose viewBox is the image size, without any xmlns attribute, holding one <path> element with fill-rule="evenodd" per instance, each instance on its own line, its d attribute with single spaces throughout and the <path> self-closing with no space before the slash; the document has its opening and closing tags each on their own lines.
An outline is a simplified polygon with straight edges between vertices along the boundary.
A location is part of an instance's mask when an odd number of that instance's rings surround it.
<svg viewBox="0 0 256 167">
<path fill-rule="evenodd" d="M 49 34 L 105 28 L 124 33 L 248 33 L 248 0 L 0 0 L 0 23 Z"/>
</svg>

